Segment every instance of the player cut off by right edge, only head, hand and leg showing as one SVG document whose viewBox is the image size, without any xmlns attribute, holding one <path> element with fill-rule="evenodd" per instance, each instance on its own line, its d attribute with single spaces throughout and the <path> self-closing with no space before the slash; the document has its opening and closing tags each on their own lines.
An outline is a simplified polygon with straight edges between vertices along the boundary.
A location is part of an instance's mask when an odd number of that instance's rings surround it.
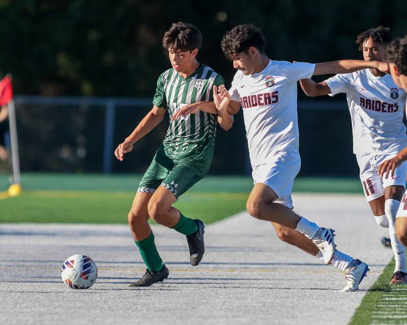
<svg viewBox="0 0 407 325">
<path fill-rule="evenodd" d="M 387 49 L 387 61 L 390 63 L 390 73 L 398 87 L 407 91 L 407 36 L 396 39 Z M 379 166 L 380 176 L 394 175 L 404 161 L 407 160 L 407 147 L 395 157 L 386 160 Z M 401 200 L 396 216 L 396 236 L 404 246 L 407 246 L 407 191 Z"/>
</svg>

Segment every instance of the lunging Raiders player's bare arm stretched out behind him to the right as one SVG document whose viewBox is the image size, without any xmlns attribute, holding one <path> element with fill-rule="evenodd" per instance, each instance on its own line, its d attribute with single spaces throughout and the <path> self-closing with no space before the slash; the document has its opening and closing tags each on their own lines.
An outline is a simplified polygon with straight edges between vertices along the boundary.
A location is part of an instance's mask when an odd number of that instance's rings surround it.
<svg viewBox="0 0 407 325">
<path fill-rule="evenodd" d="M 313 76 L 337 73 L 351 73 L 362 69 L 376 68 L 381 72 L 389 73 L 389 64 L 380 61 L 338 60 L 332 62 L 316 63 Z"/>
</svg>

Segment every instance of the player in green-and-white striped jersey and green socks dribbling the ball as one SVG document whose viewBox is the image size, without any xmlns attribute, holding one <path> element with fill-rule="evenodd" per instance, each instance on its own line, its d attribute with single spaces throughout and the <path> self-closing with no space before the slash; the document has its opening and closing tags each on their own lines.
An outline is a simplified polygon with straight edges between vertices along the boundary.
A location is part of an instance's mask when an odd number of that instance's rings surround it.
<svg viewBox="0 0 407 325">
<path fill-rule="evenodd" d="M 158 78 L 152 110 L 114 151 L 122 161 L 134 143 L 157 126 L 168 111 L 167 134 L 140 182 L 128 215 L 135 244 L 147 266 L 146 273 L 130 286 L 149 286 L 169 274 L 154 243 L 150 217 L 187 237 L 192 266 L 199 264 L 205 252 L 203 222 L 188 218 L 171 206 L 208 173 L 217 124 L 227 130 L 233 123 L 232 115 L 226 111 L 227 103 L 222 102 L 217 91 L 224 84 L 223 78 L 196 60 L 201 42 L 200 31 L 187 23 L 173 23 L 164 34 L 163 47 L 168 49 L 172 68 Z M 182 107 L 200 101 L 214 101 L 217 114 L 198 111 L 171 120 Z"/>
</svg>

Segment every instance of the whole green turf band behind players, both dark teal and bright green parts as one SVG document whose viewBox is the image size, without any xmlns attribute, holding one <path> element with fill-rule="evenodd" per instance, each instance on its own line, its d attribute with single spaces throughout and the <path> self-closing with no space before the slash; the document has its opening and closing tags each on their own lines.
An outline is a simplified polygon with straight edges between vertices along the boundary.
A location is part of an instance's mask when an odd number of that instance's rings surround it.
<svg viewBox="0 0 407 325">
<path fill-rule="evenodd" d="M 0 200 L 0 222 L 127 223 L 141 175 L 23 174 L 20 196 Z M 209 176 L 175 204 L 185 215 L 214 222 L 240 211 L 250 177 Z M 8 178 L 0 175 L 0 189 Z M 359 180 L 299 178 L 299 192 L 361 193 Z"/>
</svg>

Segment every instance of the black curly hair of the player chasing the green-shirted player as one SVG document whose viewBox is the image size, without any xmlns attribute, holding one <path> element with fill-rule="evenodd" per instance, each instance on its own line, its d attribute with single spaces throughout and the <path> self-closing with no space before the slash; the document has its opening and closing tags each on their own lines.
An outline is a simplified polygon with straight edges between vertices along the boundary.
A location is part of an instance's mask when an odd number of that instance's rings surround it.
<svg viewBox="0 0 407 325">
<path fill-rule="evenodd" d="M 251 46 L 264 53 L 266 39 L 259 28 L 252 24 L 237 25 L 223 36 L 221 48 L 225 56 L 232 60 L 238 53 L 249 51 Z"/>
</svg>

